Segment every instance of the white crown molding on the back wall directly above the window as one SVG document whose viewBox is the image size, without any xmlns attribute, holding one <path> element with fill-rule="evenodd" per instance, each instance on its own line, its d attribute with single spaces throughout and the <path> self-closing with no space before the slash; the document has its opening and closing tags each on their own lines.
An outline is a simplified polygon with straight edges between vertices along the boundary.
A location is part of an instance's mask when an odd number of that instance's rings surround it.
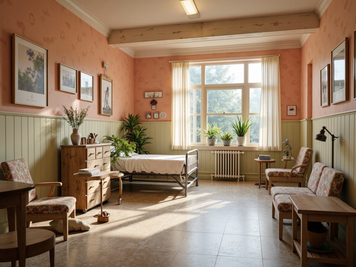
<svg viewBox="0 0 356 267">
<path fill-rule="evenodd" d="M 300 47 L 301 46 L 299 41 L 252 43 L 252 44 L 234 45 L 234 46 L 216 46 L 216 47 L 199 47 L 199 48 L 184 48 L 184 49 L 167 49 L 167 50 L 158 50 L 158 51 L 142 51 L 142 52 L 135 52 L 134 58 L 186 56 L 186 55 L 197 55 L 197 54 L 261 51 L 261 50 L 288 49 L 288 48 L 300 48 Z"/>
</svg>

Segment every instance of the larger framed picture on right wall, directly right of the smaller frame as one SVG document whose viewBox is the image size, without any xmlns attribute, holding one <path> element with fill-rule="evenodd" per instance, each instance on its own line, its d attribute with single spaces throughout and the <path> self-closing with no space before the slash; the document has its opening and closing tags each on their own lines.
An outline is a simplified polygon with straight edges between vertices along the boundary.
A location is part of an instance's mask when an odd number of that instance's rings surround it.
<svg viewBox="0 0 356 267">
<path fill-rule="evenodd" d="M 349 100 L 349 39 L 331 51 L 331 104 Z"/>
</svg>

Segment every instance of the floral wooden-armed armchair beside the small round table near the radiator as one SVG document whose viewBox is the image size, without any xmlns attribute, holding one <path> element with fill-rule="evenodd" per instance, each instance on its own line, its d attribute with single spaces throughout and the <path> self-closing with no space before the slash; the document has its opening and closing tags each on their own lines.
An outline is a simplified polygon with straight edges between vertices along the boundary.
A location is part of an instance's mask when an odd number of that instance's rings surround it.
<svg viewBox="0 0 356 267">
<path fill-rule="evenodd" d="M 271 194 L 273 182 L 298 182 L 299 187 L 305 187 L 305 179 L 309 164 L 312 161 L 312 148 L 300 148 L 297 159 L 292 169 L 266 169 L 266 190 Z M 268 184 L 267 184 L 268 180 Z"/>
</svg>

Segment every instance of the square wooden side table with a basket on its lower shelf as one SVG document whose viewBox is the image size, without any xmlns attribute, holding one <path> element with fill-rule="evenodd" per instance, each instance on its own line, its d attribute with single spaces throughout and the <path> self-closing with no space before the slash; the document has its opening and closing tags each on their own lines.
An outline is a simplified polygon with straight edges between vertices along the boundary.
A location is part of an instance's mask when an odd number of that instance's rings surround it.
<svg viewBox="0 0 356 267">
<path fill-rule="evenodd" d="M 352 267 L 353 264 L 353 230 L 356 210 L 336 197 L 314 197 L 303 195 L 289 195 L 293 203 L 292 213 L 292 250 L 300 256 L 300 266 L 306 267 L 307 262 L 321 262 L 344 264 Z M 301 222 L 300 242 L 297 239 L 297 218 Z M 328 243 L 334 248 L 332 252 L 315 252 L 307 249 L 308 221 L 321 221 L 346 224 L 346 251 L 342 251 L 334 240 L 330 231 Z"/>
</svg>

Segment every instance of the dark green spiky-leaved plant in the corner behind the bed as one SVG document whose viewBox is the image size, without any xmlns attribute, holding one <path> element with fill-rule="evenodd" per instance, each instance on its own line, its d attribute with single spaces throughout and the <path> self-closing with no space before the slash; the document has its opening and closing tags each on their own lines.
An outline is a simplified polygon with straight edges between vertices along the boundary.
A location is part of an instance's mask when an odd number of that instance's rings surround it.
<svg viewBox="0 0 356 267">
<path fill-rule="evenodd" d="M 148 140 L 153 138 L 146 136 L 145 131 L 147 128 L 141 127 L 140 124 L 142 124 L 142 122 L 140 119 L 141 116 L 139 114 L 136 114 L 135 116 L 129 114 L 127 118 L 124 118 L 124 125 L 122 126 L 121 131 L 123 130 L 126 132 L 123 137 L 125 140 L 136 143 L 136 153 L 149 154 L 150 152 L 145 150 L 144 146 L 150 144 L 151 142 Z"/>
</svg>

